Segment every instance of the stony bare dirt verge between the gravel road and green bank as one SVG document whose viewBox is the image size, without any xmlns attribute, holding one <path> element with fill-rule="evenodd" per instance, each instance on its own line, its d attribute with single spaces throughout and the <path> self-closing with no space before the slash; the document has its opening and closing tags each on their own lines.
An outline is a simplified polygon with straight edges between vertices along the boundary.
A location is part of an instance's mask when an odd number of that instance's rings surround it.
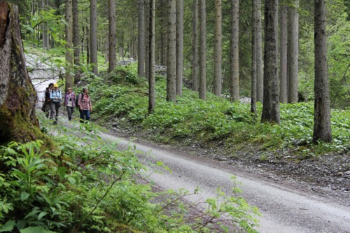
<svg viewBox="0 0 350 233">
<path fill-rule="evenodd" d="M 265 151 L 262 159 L 261 151 L 252 144 L 235 151 L 225 148 L 222 141 L 211 143 L 210 146 L 200 143 L 187 145 L 181 141 L 176 142 L 176 145 L 164 145 L 164 143 L 155 142 L 151 134 L 130 125 L 127 127 L 114 122 L 104 127 L 111 129 L 111 132 L 117 136 L 216 160 L 248 174 L 255 174 L 266 181 L 312 192 L 314 195 L 327 197 L 339 204 L 350 206 L 350 155 L 348 153 L 326 154 L 297 161 L 293 160 L 293 150 L 284 149 L 278 152 L 283 153 L 283 157 L 276 157 L 276 152 Z M 347 169 L 342 172 L 344 168 Z"/>
</svg>

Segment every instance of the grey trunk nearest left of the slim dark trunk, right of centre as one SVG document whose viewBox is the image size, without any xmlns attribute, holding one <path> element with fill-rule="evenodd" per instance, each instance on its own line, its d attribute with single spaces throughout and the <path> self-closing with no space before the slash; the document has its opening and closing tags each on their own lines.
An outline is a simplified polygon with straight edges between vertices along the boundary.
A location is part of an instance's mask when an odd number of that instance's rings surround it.
<svg viewBox="0 0 350 233">
<path fill-rule="evenodd" d="M 239 99 L 239 0 L 231 0 L 230 99 Z"/>
</svg>

